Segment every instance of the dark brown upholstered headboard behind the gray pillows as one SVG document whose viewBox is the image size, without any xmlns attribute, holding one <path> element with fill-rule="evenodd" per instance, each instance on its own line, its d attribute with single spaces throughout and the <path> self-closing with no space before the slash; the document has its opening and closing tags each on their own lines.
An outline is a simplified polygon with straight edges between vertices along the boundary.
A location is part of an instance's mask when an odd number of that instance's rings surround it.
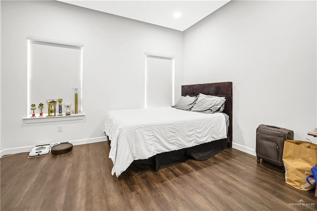
<svg viewBox="0 0 317 211">
<path fill-rule="evenodd" d="M 228 147 L 232 147 L 232 82 L 193 84 L 182 86 L 182 96 L 197 96 L 199 93 L 226 98 L 223 112 L 229 116 L 230 124 L 228 129 Z"/>
</svg>

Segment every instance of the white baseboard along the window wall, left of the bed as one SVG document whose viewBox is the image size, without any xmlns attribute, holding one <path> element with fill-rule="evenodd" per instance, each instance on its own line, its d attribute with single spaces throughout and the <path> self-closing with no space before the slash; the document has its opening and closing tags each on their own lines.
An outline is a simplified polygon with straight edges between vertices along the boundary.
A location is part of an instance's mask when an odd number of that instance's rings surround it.
<svg viewBox="0 0 317 211">
<path fill-rule="evenodd" d="M 105 136 L 102 136 L 102 137 L 90 138 L 90 139 L 73 140 L 73 141 L 69 141 L 69 143 L 76 146 L 76 145 L 82 145 L 82 144 L 97 143 L 97 142 L 102 142 L 102 141 L 106 141 L 106 140 L 107 140 L 107 138 Z M 52 146 L 54 143 L 50 143 L 50 144 Z M 17 154 L 17 153 L 28 153 L 28 152 L 31 152 L 33 147 L 35 147 L 35 146 L 4 149 L 0 152 L 0 157 L 6 156 L 6 155 Z"/>
</svg>

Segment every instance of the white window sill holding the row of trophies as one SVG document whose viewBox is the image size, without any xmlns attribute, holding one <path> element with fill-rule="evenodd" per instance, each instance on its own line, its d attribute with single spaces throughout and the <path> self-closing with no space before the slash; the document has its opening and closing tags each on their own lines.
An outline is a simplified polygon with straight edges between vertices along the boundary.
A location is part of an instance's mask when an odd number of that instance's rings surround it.
<svg viewBox="0 0 317 211">
<path fill-rule="evenodd" d="M 59 121 L 71 121 L 71 120 L 82 120 L 85 118 L 85 114 L 71 114 L 66 116 L 63 114 L 62 116 L 45 116 L 43 114 L 42 117 L 25 117 L 23 121 L 25 124 L 30 123 L 43 123 L 43 122 L 59 122 Z"/>
</svg>

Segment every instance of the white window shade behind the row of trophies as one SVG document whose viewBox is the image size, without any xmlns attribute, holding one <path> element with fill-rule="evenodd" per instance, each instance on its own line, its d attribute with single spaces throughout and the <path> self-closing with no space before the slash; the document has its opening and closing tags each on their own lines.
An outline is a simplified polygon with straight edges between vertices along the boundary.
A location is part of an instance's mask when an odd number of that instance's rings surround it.
<svg viewBox="0 0 317 211">
<path fill-rule="evenodd" d="M 40 103 L 44 104 L 43 112 L 48 112 L 47 100 L 63 99 L 62 105 L 71 104 L 74 110 L 72 88 L 78 88 L 78 111 L 82 111 L 82 50 L 76 43 L 28 37 L 27 116 L 33 112 L 31 104 L 36 105 L 36 113 L 40 112 Z"/>
</svg>

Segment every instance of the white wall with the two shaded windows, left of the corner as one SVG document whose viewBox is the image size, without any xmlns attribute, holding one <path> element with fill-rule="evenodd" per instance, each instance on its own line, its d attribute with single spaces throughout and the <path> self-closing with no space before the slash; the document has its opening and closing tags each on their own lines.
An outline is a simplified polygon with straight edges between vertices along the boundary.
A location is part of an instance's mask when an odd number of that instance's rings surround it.
<svg viewBox="0 0 317 211">
<path fill-rule="evenodd" d="M 29 106 L 26 105 L 28 35 L 84 44 L 84 120 L 23 122 L 25 108 Z M 145 52 L 175 56 L 175 96 L 180 96 L 182 32 L 59 1 L 1 1 L 4 154 L 28 151 L 29 146 L 48 142 L 106 140 L 103 123 L 107 111 L 144 106 Z M 43 80 L 48 80 L 45 75 Z M 47 84 L 56 86 L 53 77 Z M 56 131 L 57 124 L 63 125 L 63 132 Z"/>
</svg>

